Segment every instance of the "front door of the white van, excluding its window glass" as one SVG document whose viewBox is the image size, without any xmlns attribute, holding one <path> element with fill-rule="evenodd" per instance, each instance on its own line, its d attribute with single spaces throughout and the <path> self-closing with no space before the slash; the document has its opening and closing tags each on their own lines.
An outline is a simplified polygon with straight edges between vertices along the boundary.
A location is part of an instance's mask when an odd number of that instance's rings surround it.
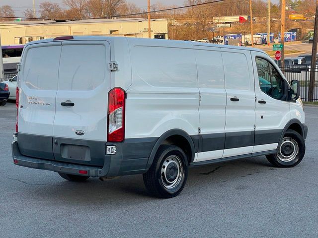
<svg viewBox="0 0 318 238">
<path fill-rule="evenodd" d="M 258 51 L 251 51 L 256 94 L 256 130 L 255 148 L 253 152 L 276 149 L 285 125 L 291 119 L 290 102 L 272 98 L 260 89 L 259 75 L 255 60 L 256 57 L 267 60 L 277 69 L 281 77 L 285 78 L 281 70 L 276 67 L 274 60 L 272 60 L 267 54 Z M 266 104 L 258 103 L 259 100 L 266 101 Z M 300 113 L 299 115 L 303 114 Z M 299 119 L 299 117 L 296 118 Z"/>
</svg>

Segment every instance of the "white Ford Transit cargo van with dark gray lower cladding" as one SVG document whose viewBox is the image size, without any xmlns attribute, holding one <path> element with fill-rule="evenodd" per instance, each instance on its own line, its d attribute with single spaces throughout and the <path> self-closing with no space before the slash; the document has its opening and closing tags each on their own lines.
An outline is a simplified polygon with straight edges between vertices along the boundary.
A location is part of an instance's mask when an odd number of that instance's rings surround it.
<svg viewBox="0 0 318 238">
<path fill-rule="evenodd" d="M 299 84 L 254 48 L 119 37 L 58 37 L 23 50 L 16 165 L 64 179 L 143 174 L 156 196 L 190 166 L 305 154 Z"/>
</svg>

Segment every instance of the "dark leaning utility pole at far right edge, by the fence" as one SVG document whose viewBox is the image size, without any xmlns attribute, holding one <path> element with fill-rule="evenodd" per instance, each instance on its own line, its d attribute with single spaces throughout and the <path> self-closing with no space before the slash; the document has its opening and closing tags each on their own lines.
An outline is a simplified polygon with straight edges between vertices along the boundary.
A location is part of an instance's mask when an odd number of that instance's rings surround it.
<svg viewBox="0 0 318 238">
<path fill-rule="evenodd" d="M 308 99 L 310 102 L 313 102 L 313 99 L 314 99 L 317 43 L 318 43 L 318 0 L 316 0 L 316 16 L 315 16 L 314 40 L 313 40 L 313 49 L 312 49 L 312 63 L 311 63 L 310 78 L 309 78 Z"/>
</svg>

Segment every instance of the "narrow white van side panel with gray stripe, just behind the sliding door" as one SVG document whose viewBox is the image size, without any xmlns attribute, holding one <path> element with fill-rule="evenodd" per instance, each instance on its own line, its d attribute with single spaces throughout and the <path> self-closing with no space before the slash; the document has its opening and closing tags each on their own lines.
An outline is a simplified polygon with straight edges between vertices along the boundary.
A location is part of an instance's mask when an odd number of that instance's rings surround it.
<svg viewBox="0 0 318 238">
<path fill-rule="evenodd" d="M 201 94 L 198 152 L 203 153 L 198 153 L 194 162 L 199 162 L 223 155 L 226 91 L 220 48 L 200 47 L 195 50 L 195 57 Z"/>
</svg>

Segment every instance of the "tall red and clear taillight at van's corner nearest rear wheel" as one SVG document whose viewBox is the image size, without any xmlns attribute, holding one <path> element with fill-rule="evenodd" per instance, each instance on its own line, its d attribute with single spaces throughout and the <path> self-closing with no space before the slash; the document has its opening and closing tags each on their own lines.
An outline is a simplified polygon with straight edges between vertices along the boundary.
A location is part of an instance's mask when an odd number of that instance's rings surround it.
<svg viewBox="0 0 318 238">
<path fill-rule="evenodd" d="M 113 88 L 108 93 L 107 141 L 121 142 L 125 138 L 125 91 Z"/>
</svg>

